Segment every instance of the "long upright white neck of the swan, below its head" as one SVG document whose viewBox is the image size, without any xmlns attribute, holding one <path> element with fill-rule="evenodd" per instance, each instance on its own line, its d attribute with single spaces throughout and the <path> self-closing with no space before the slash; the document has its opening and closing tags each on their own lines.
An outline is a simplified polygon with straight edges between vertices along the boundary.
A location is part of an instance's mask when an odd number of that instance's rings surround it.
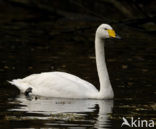
<svg viewBox="0 0 156 129">
<path fill-rule="evenodd" d="M 98 93 L 99 98 L 113 98 L 113 90 L 109 80 L 109 75 L 106 67 L 105 52 L 104 52 L 104 40 L 100 39 L 98 35 L 95 38 L 95 54 L 97 72 L 100 81 L 100 91 Z"/>
</svg>

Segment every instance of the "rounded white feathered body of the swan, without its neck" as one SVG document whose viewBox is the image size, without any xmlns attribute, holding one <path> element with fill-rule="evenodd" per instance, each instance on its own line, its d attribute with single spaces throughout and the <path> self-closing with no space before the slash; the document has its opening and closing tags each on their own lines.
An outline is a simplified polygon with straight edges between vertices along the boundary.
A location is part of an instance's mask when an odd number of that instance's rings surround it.
<svg viewBox="0 0 156 129">
<path fill-rule="evenodd" d="M 47 97 L 87 98 L 98 92 L 89 82 L 64 72 L 33 74 L 13 82 L 22 92 L 32 87 L 33 94 Z"/>
</svg>

